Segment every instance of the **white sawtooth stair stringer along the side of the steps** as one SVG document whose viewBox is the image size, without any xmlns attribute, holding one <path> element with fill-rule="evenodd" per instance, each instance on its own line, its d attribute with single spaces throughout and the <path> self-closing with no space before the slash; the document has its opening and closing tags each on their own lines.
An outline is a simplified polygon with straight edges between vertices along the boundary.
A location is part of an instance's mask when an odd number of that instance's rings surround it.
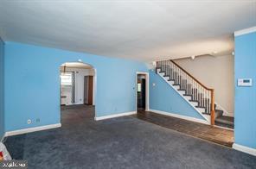
<svg viewBox="0 0 256 169">
<path fill-rule="evenodd" d="M 196 108 L 196 107 L 195 107 L 196 105 L 189 101 L 189 97 L 184 97 L 184 96 L 183 96 L 183 91 L 178 91 L 178 88 L 179 88 L 179 87 L 174 86 L 174 85 L 171 83 L 171 81 L 168 80 L 169 77 L 163 77 L 164 72 L 160 72 L 160 69 L 159 69 L 159 68 L 157 68 L 157 74 L 158 74 L 161 78 L 163 78 L 163 80 L 164 80 L 167 84 L 169 84 L 170 87 L 172 87 L 187 103 L 189 103 L 189 105 L 192 106 L 192 107 L 196 110 L 196 112 L 197 112 L 200 116 L 202 116 L 202 117 L 207 121 L 208 124 L 210 124 L 210 122 L 211 122 L 211 120 L 210 120 L 211 117 L 210 117 L 209 115 L 204 115 L 204 114 L 202 114 L 202 111 L 203 111 L 204 109 L 202 109 L 202 108 Z"/>
</svg>

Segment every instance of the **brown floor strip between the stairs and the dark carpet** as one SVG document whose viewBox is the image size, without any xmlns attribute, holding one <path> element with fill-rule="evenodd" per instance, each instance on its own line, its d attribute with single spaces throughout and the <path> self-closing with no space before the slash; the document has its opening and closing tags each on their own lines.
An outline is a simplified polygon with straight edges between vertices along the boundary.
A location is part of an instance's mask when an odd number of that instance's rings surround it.
<svg viewBox="0 0 256 169">
<path fill-rule="evenodd" d="M 234 131 L 218 128 L 198 122 L 190 122 L 176 117 L 158 115 L 149 111 L 139 110 L 135 115 L 138 119 L 151 122 L 165 128 L 171 128 L 186 135 L 191 135 L 223 146 L 232 147 Z"/>
</svg>

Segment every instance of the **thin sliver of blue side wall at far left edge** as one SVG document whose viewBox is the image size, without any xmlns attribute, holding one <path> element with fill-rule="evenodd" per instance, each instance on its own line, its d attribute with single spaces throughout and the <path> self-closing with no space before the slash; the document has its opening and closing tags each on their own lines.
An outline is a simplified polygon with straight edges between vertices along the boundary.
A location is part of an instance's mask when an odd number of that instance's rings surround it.
<svg viewBox="0 0 256 169">
<path fill-rule="evenodd" d="M 0 140 L 4 133 L 4 116 L 3 116 L 3 49 L 4 43 L 0 37 Z"/>
</svg>

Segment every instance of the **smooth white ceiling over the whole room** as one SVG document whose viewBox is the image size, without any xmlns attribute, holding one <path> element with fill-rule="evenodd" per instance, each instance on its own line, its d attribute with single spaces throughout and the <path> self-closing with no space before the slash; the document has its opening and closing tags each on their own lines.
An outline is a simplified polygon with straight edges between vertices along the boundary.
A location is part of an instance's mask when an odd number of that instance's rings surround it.
<svg viewBox="0 0 256 169">
<path fill-rule="evenodd" d="M 256 0 L 0 1 L 3 41 L 141 60 L 231 53 L 255 25 Z"/>
</svg>

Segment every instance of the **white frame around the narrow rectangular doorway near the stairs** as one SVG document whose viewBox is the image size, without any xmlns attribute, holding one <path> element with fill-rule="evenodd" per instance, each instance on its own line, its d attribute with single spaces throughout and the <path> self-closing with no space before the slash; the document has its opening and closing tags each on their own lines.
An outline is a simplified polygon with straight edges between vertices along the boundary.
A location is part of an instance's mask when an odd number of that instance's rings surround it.
<svg viewBox="0 0 256 169">
<path fill-rule="evenodd" d="M 145 93 L 145 110 L 146 111 L 149 111 L 150 110 L 150 74 L 149 72 L 136 72 L 136 80 L 135 80 L 135 84 L 136 84 L 136 87 L 135 87 L 135 110 L 137 112 L 137 109 L 138 109 L 138 105 L 137 105 L 137 83 L 138 83 L 138 74 L 144 74 L 145 77 L 146 77 L 146 93 Z"/>
</svg>

